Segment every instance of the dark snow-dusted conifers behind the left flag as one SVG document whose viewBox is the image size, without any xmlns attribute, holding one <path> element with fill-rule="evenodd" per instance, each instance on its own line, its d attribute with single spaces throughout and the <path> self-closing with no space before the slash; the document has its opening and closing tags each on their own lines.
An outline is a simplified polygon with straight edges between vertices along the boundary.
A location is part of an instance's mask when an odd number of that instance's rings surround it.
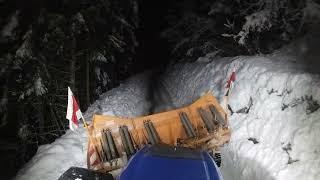
<svg viewBox="0 0 320 180">
<path fill-rule="evenodd" d="M 85 110 L 131 73 L 136 0 L 3 0 L 0 14 L 0 131 L 15 146 L 64 133 L 67 86 Z"/>
</svg>

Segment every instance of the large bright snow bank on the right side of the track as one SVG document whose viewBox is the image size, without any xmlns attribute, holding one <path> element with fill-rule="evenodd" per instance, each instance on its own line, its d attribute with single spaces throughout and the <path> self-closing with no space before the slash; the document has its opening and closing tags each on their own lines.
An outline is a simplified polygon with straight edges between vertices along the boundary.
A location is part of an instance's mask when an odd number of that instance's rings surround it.
<svg viewBox="0 0 320 180">
<path fill-rule="evenodd" d="M 229 119 L 231 142 L 222 149 L 226 180 L 320 179 L 320 76 L 318 67 L 306 68 L 296 57 L 208 54 L 168 70 L 163 81 L 179 107 L 208 90 L 221 100 L 236 68 L 230 106 L 238 113 Z"/>
</svg>

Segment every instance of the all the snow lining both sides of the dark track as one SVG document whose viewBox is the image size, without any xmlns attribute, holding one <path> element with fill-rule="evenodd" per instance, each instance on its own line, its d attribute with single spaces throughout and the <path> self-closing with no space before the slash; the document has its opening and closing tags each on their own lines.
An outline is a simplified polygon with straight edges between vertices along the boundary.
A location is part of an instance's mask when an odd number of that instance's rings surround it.
<svg viewBox="0 0 320 180">
<path fill-rule="evenodd" d="M 320 56 L 305 41 L 268 56 L 219 59 L 208 54 L 169 68 L 161 78 L 161 91 L 154 95 L 164 99 L 167 94 L 170 101 L 163 102 L 180 107 L 208 90 L 221 100 L 226 79 L 236 68 L 230 97 L 232 137 L 222 149 L 225 180 L 320 179 L 320 69 L 315 61 Z M 151 107 L 147 82 L 145 75 L 131 78 L 104 94 L 85 116 L 158 111 Z M 83 129 L 67 132 L 42 146 L 16 179 L 57 179 L 70 166 L 85 166 L 85 136 Z"/>
</svg>

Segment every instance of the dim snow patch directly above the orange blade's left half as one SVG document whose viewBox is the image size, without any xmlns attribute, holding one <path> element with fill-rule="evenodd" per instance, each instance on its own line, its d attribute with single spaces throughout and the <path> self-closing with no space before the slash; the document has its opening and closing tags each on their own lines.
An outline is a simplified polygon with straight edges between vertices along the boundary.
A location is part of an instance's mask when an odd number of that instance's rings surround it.
<svg viewBox="0 0 320 180">
<path fill-rule="evenodd" d="M 130 78 L 118 88 L 114 88 L 100 96 L 86 111 L 84 117 L 91 119 L 93 114 L 120 117 L 137 117 L 149 113 L 150 74 L 146 72 Z"/>
</svg>

